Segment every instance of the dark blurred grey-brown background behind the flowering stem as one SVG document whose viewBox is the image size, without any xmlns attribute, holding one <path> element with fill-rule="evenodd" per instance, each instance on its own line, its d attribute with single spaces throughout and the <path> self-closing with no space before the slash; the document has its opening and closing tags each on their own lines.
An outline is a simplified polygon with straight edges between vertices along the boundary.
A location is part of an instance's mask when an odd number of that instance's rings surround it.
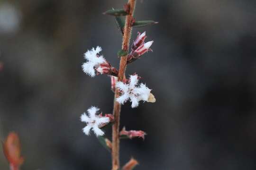
<svg viewBox="0 0 256 170">
<path fill-rule="evenodd" d="M 19 134 L 22 170 L 110 170 L 111 157 L 80 115 L 111 113 L 108 76 L 82 72 L 100 45 L 118 68 L 122 36 L 113 17 L 126 0 L 0 0 L 0 140 Z M 138 0 L 137 20 L 152 49 L 128 65 L 155 103 L 122 107 L 121 127 L 144 130 L 121 141 L 121 164 L 136 170 L 255 170 L 256 1 Z M 106 136 L 111 138 L 111 129 Z M 0 148 L 0 169 L 8 163 Z"/>
</svg>

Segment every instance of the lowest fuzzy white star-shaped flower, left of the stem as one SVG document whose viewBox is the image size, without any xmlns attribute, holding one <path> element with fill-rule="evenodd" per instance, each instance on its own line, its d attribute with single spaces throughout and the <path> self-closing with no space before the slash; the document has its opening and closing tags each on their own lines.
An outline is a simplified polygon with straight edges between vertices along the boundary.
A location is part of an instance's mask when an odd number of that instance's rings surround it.
<svg viewBox="0 0 256 170">
<path fill-rule="evenodd" d="M 99 108 L 91 106 L 91 108 L 87 110 L 88 116 L 86 113 L 83 113 L 81 115 L 81 121 L 87 124 L 87 126 L 82 129 L 85 135 L 90 134 L 91 128 L 96 136 L 104 135 L 104 132 L 99 127 L 101 127 L 101 125 L 103 124 L 108 123 L 110 119 L 108 117 L 101 117 L 99 115 L 96 115 L 97 111 L 99 110 Z"/>
</svg>

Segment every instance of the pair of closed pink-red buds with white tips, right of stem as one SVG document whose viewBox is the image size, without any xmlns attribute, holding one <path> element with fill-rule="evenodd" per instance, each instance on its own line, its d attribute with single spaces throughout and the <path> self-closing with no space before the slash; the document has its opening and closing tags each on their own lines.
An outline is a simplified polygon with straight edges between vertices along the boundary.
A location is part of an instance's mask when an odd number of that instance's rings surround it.
<svg viewBox="0 0 256 170">
<path fill-rule="evenodd" d="M 152 51 L 150 49 L 154 41 L 144 42 L 146 39 L 146 32 L 140 34 L 138 32 L 136 40 L 132 44 L 132 51 L 128 55 L 127 63 L 131 63 L 136 59 L 139 59 L 147 51 Z"/>
</svg>

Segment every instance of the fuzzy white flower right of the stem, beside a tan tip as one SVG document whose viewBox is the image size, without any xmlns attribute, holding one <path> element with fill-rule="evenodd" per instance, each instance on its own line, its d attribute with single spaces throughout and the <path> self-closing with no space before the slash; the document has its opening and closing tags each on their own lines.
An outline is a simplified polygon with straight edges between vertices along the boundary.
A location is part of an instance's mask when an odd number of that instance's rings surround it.
<svg viewBox="0 0 256 170">
<path fill-rule="evenodd" d="M 137 107 L 138 102 L 141 100 L 144 102 L 147 101 L 151 91 L 151 89 L 142 83 L 138 85 L 138 75 L 130 76 L 128 84 L 120 81 L 117 82 L 116 87 L 122 92 L 122 95 L 117 98 L 117 102 L 124 104 L 130 100 L 132 102 L 132 108 Z"/>
</svg>

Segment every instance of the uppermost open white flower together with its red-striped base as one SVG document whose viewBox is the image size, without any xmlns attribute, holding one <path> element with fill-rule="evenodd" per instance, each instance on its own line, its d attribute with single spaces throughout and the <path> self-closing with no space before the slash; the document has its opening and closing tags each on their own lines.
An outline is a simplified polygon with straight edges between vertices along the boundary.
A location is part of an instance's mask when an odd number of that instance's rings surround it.
<svg viewBox="0 0 256 170">
<path fill-rule="evenodd" d="M 86 59 L 87 62 L 83 63 L 82 65 L 83 72 L 91 77 L 96 75 L 95 71 L 97 75 L 108 74 L 117 76 L 118 70 L 113 68 L 102 55 L 99 55 L 101 51 L 101 47 L 97 46 L 96 49 L 92 48 L 84 53 L 84 59 Z"/>
</svg>

